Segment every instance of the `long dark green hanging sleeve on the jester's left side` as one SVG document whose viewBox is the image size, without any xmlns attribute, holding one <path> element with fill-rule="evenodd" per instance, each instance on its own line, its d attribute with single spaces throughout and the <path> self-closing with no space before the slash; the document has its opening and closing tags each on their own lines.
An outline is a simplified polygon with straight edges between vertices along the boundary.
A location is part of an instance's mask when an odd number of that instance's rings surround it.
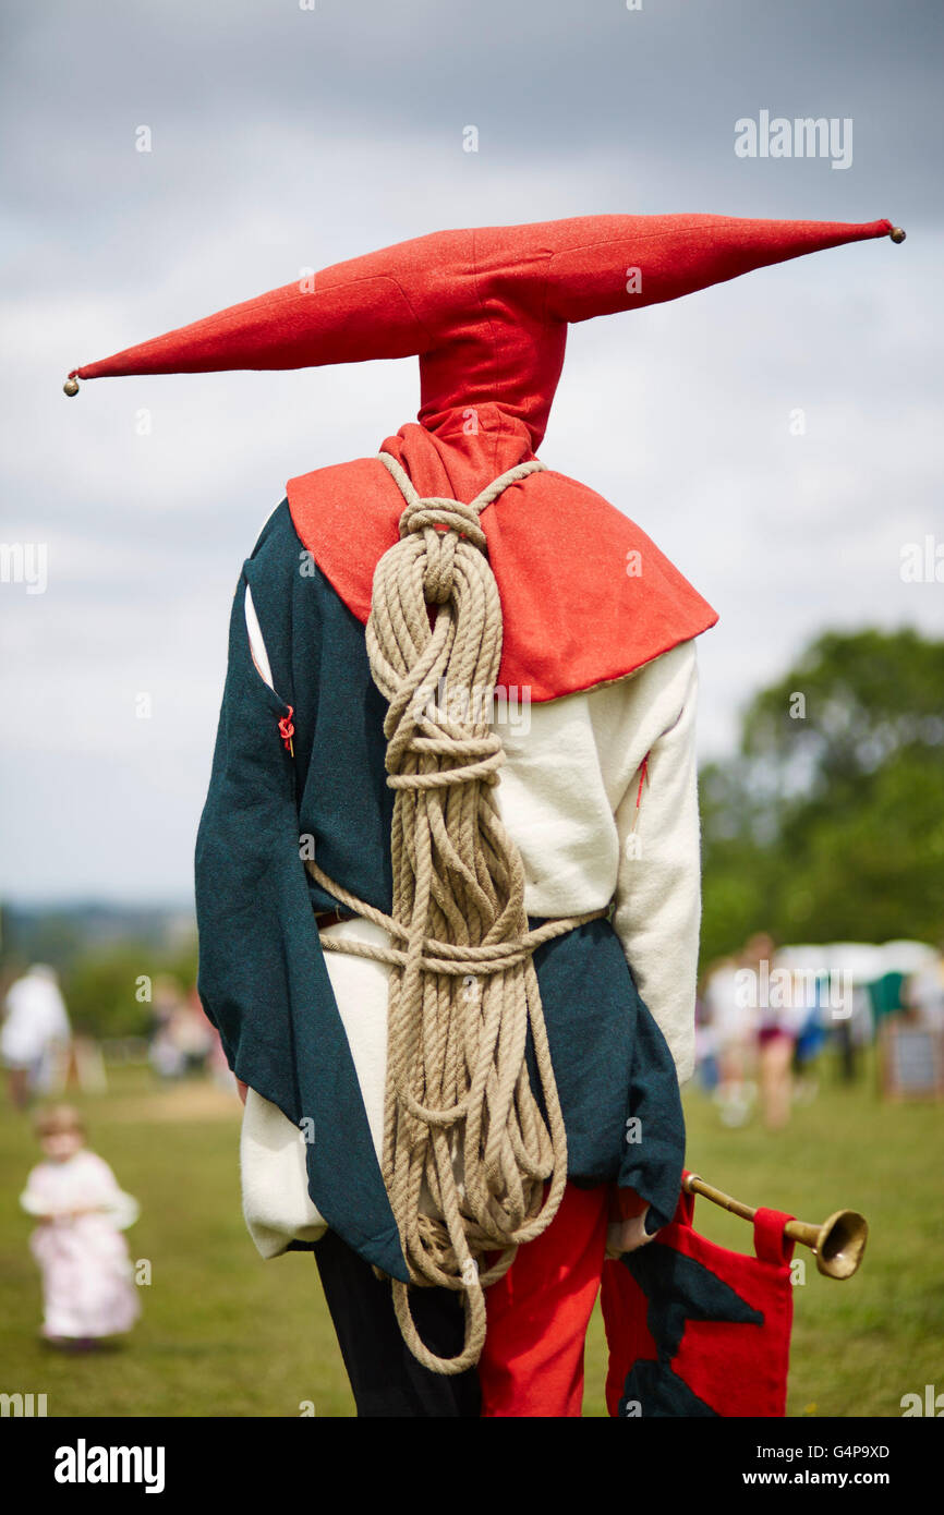
<svg viewBox="0 0 944 1515">
<path fill-rule="evenodd" d="M 300 854 L 297 765 L 279 723 L 317 701 L 292 688 L 299 615 L 297 536 L 286 506 L 244 565 L 230 618 L 229 665 L 195 850 L 198 991 L 238 1079 L 292 1123 L 312 1121 L 309 1191 L 327 1224 L 368 1260 L 405 1279 L 350 1047 L 338 1014 Z M 274 688 L 258 671 L 245 588 L 265 636 Z M 311 715 L 311 711 L 308 712 Z M 306 723 L 311 727 L 311 720 Z"/>
</svg>

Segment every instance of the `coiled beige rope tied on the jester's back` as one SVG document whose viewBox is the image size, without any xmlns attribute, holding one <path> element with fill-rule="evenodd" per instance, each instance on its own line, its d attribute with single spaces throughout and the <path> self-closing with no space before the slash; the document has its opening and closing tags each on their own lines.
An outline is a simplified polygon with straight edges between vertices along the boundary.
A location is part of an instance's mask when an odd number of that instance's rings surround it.
<svg viewBox="0 0 944 1515">
<path fill-rule="evenodd" d="M 374 571 L 367 626 L 371 674 L 389 701 L 392 915 L 358 900 L 315 862 L 306 867 L 394 939 L 389 948 L 327 935 L 321 941 L 326 950 L 394 970 L 383 1182 L 411 1282 L 462 1292 L 459 1354 L 439 1357 L 424 1345 L 409 1286 L 397 1279 L 394 1307 L 412 1354 L 433 1373 L 453 1374 L 482 1353 L 483 1289 L 550 1224 L 567 1182 L 532 953 L 606 912 L 527 929 L 521 854 L 492 792 L 505 758 L 491 730 L 502 603 L 479 512 L 545 465 L 518 464 L 465 504 L 421 498 L 400 464 L 379 456 L 406 500 L 400 541 Z M 544 1115 L 526 1064 L 529 1030 Z"/>
</svg>

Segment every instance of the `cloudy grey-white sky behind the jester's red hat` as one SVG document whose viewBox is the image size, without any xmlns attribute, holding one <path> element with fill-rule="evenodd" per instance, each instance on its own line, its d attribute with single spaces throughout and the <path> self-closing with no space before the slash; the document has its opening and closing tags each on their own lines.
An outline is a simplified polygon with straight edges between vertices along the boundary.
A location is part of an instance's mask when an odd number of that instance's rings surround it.
<svg viewBox="0 0 944 1515">
<path fill-rule="evenodd" d="M 76 400 L 67 371 L 424 232 L 617 211 L 905 226 L 903 247 L 571 329 L 541 456 L 720 611 L 705 756 L 823 627 L 944 632 L 944 585 L 900 576 L 905 544 L 944 542 L 942 32 L 932 0 L 8 9 L 0 542 L 45 551 L 47 582 L 27 592 L 8 553 L 0 897 L 188 900 L 242 559 L 286 479 L 374 453 L 418 405 L 414 359 Z M 850 120 L 852 162 L 739 158 L 735 123 L 762 111 Z"/>
</svg>

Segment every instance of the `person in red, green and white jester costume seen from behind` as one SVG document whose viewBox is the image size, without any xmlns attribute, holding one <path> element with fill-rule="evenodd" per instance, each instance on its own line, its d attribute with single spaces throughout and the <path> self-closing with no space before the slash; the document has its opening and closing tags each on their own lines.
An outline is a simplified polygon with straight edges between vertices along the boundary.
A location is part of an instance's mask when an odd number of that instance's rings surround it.
<svg viewBox="0 0 944 1515">
<path fill-rule="evenodd" d="M 439 232 L 70 374 L 420 358 L 417 423 L 244 565 L 197 838 L 245 1220 L 314 1251 L 361 1415 L 579 1415 L 605 1251 L 679 1200 L 717 617 L 536 458 L 567 327 L 888 233 Z"/>
</svg>

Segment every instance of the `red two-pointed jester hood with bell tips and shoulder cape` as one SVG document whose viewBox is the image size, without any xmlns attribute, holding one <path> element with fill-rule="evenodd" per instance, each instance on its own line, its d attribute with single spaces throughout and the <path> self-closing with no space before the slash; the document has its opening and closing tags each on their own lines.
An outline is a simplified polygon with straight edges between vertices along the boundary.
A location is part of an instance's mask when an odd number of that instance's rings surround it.
<svg viewBox="0 0 944 1515">
<path fill-rule="evenodd" d="M 473 498 L 541 444 L 570 323 L 877 236 L 905 233 L 886 220 L 718 215 L 589 215 L 435 232 L 74 368 L 65 388 L 74 394 L 79 379 L 121 374 L 418 356 L 420 424 L 383 448 L 421 494 Z M 303 545 L 367 620 L 373 571 L 397 539 L 403 508 L 389 473 L 376 459 L 320 468 L 289 480 L 288 500 Z M 505 608 L 500 679 L 530 685 L 533 698 L 621 677 L 717 620 L 627 517 L 562 474 L 527 476 L 482 524 Z M 627 562 L 639 571 L 629 573 Z"/>
</svg>

